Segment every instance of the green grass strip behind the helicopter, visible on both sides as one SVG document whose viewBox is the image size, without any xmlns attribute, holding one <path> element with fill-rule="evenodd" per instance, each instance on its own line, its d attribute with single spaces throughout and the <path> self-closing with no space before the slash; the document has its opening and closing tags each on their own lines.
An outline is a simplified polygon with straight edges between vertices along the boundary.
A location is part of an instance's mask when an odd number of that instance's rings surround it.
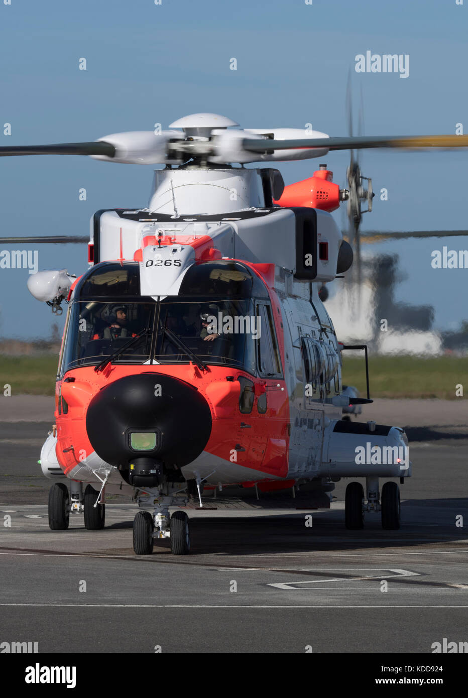
<svg viewBox="0 0 468 698">
<path fill-rule="evenodd" d="M 54 354 L 11 357 L 0 355 L 0 390 L 11 394 L 54 395 L 58 357 Z M 371 397 L 455 399 L 455 385 L 468 373 L 468 358 L 370 357 Z M 365 396 L 364 358 L 343 355 L 343 383 Z M 465 381 L 468 390 L 468 381 Z"/>
</svg>

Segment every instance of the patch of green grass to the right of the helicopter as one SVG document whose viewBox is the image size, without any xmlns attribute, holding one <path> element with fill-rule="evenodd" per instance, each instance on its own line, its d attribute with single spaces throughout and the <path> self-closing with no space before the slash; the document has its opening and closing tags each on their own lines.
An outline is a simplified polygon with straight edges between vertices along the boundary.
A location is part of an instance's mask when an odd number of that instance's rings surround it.
<svg viewBox="0 0 468 698">
<path fill-rule="evenodd" d="M 468 358 L 370 357 L 370 396 L 455 400 L 455 385 L 464 383 L 467 369 Z M 343 355 L 342 376 L 345 385 L 355 385 L 365 396 L 364 357 Z M 466 380 L 465 390 L 468 390 Z"/>
</svg>

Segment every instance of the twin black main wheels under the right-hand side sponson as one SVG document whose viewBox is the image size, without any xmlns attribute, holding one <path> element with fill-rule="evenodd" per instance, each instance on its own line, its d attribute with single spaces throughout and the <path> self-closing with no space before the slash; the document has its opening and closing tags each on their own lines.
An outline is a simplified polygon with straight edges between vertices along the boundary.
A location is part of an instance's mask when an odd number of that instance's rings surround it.
<svg viewBox="0 0 468 698">
<path fill-rule="evenodd" d="M 368 503 L 365 504 L 361 482 L 350 482 L 345 493 L 345 526 L 352 530 L 364 527 L 364 512 L 381 512 L 382 528 L 400 528 L 400 488 L 396 482 L 386 482 L 379 501 L 379 478 L 366 477 Z"/>
</svg>

